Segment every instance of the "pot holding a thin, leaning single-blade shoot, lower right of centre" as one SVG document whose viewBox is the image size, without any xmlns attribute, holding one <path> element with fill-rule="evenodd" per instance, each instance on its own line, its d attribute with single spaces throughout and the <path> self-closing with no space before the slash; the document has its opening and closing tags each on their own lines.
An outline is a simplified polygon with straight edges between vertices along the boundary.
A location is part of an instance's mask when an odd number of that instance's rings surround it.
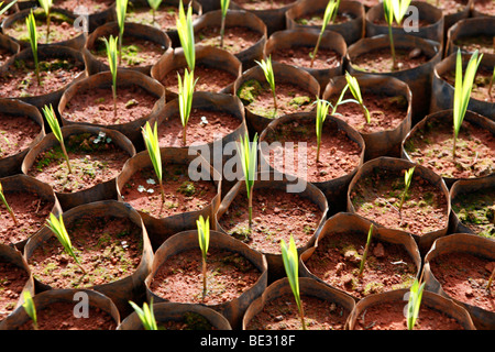
<svg viewBox="0 0 495 352">
<path fill-rule="evenodd" d="M 359 274 L 371 224 L 370 220 L 349 212 L 329 218 L 315 245 L 301 253 L 299 275 L 341 290 L 356 301 L 370 295 L 409 288 L 420 276 L 421 255 L 416 241 L 404 231 L 373 229 L 363 273 Z M 353 237 L 359 238 L 359 248 Z M 337 263 L 336 252 L 340 252 Z"/>
</svg>

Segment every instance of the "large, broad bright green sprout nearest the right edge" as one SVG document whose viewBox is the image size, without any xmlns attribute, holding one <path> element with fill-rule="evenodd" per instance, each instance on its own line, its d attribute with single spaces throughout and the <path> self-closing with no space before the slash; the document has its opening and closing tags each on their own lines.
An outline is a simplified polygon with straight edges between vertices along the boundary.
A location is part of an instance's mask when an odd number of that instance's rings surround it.
<svg viewBox="0 0 495 352">
<path fill-rule="evenodd" d="M 455 86 L 454 86 L 454 101 L 453 101 L 453 148 L 452 157 L 455 160 L 457 140 L 459 131 L 461 130 L 462 121 L 464 120 L 468 111 L 468 105 L 471 98 L 471 91 L 473 89 L 474 77 L 476 76 L 477 67 L 480 66 L 483 54 L 479 55 L 476 50 L 471 56 L 464 78 L 462 77 L 462 55 L 458 50 L 457 64 L 455 64 Z"/>
</svg>

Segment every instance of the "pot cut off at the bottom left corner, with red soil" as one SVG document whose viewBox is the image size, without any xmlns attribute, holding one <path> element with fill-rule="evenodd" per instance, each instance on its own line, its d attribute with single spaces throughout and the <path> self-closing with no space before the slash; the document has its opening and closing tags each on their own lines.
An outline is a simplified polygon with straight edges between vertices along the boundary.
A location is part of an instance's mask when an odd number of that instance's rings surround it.
<svg viewBox="0 0 495 352">
<path fill-rule="evenodd" d="M 114 330 L 120 314 L 113 301 L 91 289 L 53 289 L 33 297 L 40 330 Z M 64 321 L 61 321 L 64 319 Z M 53 324 L 53 322 L 56 324 Z M 77 321 L 87 322 L 85 327 Z M 101 322 L 103 321 L 103 322 Z M 92 323 L 92 324 L 91 324 Z M 24 307 L 0 324 L 0 330 L 33 330 L 33 321 Z"/>
</svg>

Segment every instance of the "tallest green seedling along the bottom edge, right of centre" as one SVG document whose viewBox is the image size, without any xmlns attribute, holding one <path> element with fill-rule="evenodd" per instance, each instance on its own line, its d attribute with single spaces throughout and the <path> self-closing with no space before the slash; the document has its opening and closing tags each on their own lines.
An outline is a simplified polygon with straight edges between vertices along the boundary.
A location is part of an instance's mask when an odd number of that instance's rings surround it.
<svg viewBox="0 0 495 352">
<path fill-rule="evenodd" d="M 302 308 L 302 301 L 299 294 L 299 256 L 297 254 L 296 242 L 290 237 L 289 244 L 280 240 L 282 258 L 284 261 L 285 273 L 287 275 L 290 289 L 293 290 L 294 298 L 296 300 L 297 309 L 299 310 L 300 323 L 302 330 L 306 330 L 305 312 Z"/>
</svg>

